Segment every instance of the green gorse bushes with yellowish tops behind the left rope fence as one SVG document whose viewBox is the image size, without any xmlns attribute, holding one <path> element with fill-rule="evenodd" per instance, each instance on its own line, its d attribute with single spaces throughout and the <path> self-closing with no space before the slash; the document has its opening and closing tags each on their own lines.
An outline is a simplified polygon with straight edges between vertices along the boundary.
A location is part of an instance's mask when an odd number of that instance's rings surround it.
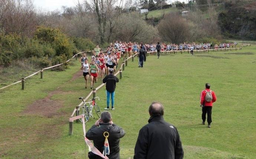
<svg viewBox="0 0 256 159">
<path fill-rule="evenodd" d="M 63 63 L 79 51 L 95 47 L 89 39 L 69 38 L 58 29 L 37 27 L 34 38 L 0 32 L 0 65 L 29 59 L 38 68 Z M 67 65 L 59 68 L 64 69 Z"/>
</svg>

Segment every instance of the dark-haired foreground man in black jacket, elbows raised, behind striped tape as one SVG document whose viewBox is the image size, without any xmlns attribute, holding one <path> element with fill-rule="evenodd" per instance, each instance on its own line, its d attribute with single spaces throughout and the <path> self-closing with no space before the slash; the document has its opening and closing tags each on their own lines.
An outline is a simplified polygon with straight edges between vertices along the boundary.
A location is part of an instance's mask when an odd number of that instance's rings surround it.
<svg viewBox="0 0 256 159">
<path fill-rule="evenodd" d="M 111 114 L 108 111 L 101 113 L 101 118 L 95 122 L 94 125 L 86 132 L 86 138 L 93 140 L 95 148 L 97 148 L 101 153 L 104 151 L 105 137 L 104 132 L 108 132 L 108 143 L 109 143 L 109 159 L 120 159 L 120 148 L 119 141 L 120 138 L 124 137 L 125 131 L 115 125 L 112 121 Z M 101 159 L 100 156 L 95 155 L 92 152 L 88 153 L 89 159 Z"/>
</svg>

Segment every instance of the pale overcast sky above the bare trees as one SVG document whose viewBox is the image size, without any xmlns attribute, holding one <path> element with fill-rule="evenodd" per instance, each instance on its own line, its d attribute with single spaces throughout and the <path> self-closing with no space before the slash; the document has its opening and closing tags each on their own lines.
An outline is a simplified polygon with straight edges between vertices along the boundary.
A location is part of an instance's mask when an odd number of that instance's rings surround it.
<svg viewBox="0 0 256 159">
<path fill-rule="evenodd" d="M 83 0 L 79 0 L 80 3 L 83 2 Z M 168 3 L 172 3 L 176 0 L 167 0 Z M 180 0 L 182 1 L 188 1 L 188 0 Z M 67 7 L 74 7 L 76 6 L 78 0 L 34 0 L 34 5 L 42 9 L 43 11 L 53 11 L 53 10 L 61 10 L 62 6 Z"/>
</svg>

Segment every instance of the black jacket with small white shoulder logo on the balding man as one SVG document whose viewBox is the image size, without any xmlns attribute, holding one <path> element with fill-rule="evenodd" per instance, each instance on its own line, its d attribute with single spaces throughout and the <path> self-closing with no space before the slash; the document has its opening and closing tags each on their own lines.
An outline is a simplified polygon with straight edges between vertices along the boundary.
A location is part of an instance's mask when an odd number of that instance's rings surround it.
<svg viewBox="0 0 256 159">
<path fill-rule="evenodd" d="M 183 148 L 177 129 L 161 117 L 150 117 L 140 129 L 134 159 L 183 159 Z"/>
</svg>

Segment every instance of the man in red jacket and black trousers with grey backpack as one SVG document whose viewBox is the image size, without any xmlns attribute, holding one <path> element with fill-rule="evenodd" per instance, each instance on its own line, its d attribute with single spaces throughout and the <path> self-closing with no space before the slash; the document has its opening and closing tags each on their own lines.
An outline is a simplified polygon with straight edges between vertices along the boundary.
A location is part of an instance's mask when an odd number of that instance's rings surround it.
<svg viewBox="0 0 256 159">
<path fill-rule="evenodd" d="M 210 90 L 210 84 L 205 84 L 205 90 L 202 90 L 201 96 L 200 96 L 200 103 L 202 107 L 202 124 L 205 124 L 206 120 L 206 113 L 207 113 L 207 122 L 208 122 L 208 128 L 211 127 L 211 109 L 213 107 L 213 102 L 217 100 L 216 95 L 214 91 Z"/>
</svg>

